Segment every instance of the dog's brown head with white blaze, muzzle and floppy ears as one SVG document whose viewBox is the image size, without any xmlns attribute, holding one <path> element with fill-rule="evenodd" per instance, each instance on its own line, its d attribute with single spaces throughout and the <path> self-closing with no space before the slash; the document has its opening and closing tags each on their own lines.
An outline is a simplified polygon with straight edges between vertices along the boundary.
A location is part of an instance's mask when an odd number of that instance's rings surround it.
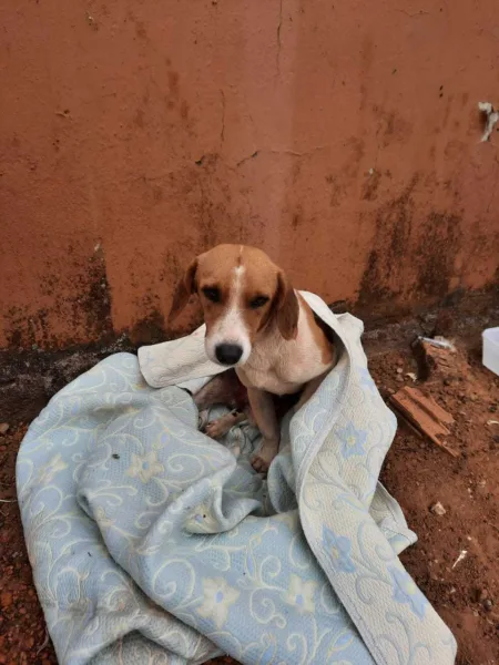
<svg viewBox="0 0 499 665">
<path fill-rule="evenodd" d="M 197 294 L 206 324 L 205 348 L 220 365 L 244 365 L 258 334 L 277 326 L 296 337 L 299 306 L 284 272 L 266 254 L 244 245 L 218 245 L 195 258 L 173 296 L 169 323 Z"/>
</svg>

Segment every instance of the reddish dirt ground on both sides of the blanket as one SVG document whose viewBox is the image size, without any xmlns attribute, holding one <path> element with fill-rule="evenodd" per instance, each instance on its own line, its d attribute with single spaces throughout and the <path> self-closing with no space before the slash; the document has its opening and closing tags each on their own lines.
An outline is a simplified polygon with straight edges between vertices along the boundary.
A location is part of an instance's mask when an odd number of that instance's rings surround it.
<svg viewBox="0 0 499 665">
<path fill-rule="evenodd" d="M 454 631 L 459 665 L 499 665 L 499 424 L 491 422 L 499 421 L 499 378 L 481 367 L 478 346 L 457 346 L 449 371 L 431 376 L 425 388 L 456 420 L 448 442 L 459 459 L 400 423 L 381 480 L 418 534 L 401 557 Z M 410 349 L 368 355 L 385 397 L 419 385 L 407 376 L 416 372 Z M 14 464 L 24 431 L 24 424 L 10 423 L 0 436 L 0 664 L 53 665 L 16 503 Z M 446 511 L 440 516 L 430 511 L 437 501 Z"/>
</svg>

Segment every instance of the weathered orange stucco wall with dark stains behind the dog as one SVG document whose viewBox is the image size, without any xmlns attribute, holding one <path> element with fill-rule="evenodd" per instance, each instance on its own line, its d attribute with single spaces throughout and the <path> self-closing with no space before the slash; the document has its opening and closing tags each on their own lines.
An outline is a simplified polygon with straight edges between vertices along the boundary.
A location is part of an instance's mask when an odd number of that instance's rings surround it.
<svg viewBox="0 0 499 665">
<path fill-rule="evenodd" d="M 161 328 L 218 242 L 373 311 L 497 277 L 497 0 L 0 0 L 0 348 Z"/>
</svg>

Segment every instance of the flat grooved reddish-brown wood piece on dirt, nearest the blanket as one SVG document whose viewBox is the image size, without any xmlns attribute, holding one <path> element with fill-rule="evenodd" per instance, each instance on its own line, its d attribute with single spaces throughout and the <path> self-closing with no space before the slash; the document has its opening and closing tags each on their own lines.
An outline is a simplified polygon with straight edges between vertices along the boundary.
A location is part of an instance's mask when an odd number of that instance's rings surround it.
<svg viewBox="0 0 499 665">
<path fill-rule="evenodd" d="M 390 397 L 391 405 L 409 422 L 420 430 L 436 446 L 451 454 L 459 457 L 459 452 L 454 450 L 446 441 L 438 437 L 450 434 L 446 424 L 452 424 L 452 416 L 442 409 L 432 397 L 426 397 L 417 388 L 405 386 L 401 390 Z"/>
</svg>

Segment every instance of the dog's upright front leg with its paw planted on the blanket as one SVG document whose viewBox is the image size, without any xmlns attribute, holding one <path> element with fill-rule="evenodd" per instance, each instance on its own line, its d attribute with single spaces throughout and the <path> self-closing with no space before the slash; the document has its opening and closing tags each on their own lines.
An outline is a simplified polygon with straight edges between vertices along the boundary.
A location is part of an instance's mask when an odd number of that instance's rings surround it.
<svg viewBox="0 0 499 665">
<path fill-rule="evenodd" d="M 252 459 L 252 467 L 258 473 L 266 473 L 272 460 L 279 450 L 279 424 L 274 400 L 269 392 L 248 388 L 247 396 L 256 427 L 263 436 L 262 447 Z"/>
</svg>

